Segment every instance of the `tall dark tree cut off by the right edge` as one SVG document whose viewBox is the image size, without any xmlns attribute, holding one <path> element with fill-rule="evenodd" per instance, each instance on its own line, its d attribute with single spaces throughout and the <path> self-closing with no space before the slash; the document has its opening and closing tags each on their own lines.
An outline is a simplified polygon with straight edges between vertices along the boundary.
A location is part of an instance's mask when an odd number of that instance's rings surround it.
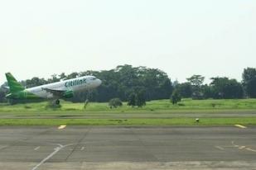
<svg viewBox="0 0 256 170">
<path fill-rule="evenodd" d="M 244 90 L 248 97 L 256 97 L 256 68 L 244 68 Z"/>
</svg>

